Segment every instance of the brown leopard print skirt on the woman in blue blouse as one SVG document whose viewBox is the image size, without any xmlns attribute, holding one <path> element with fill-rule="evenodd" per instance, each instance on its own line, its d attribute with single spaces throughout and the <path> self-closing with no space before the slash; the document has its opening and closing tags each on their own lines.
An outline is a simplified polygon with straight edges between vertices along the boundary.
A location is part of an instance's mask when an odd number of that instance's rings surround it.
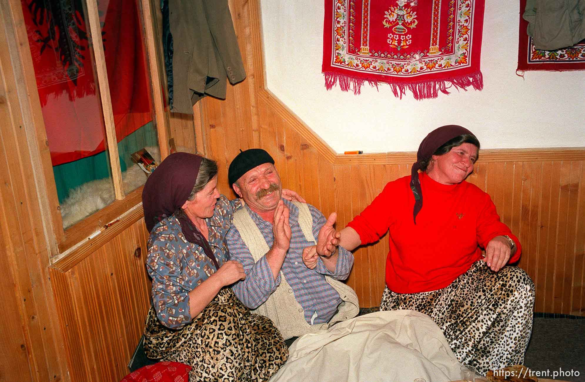
<svg viewBox="0 0 585 382">
<path fill-rule="evenodd" d="M 180 329 L 162 325 L 150 308 L 144 350 L 150 358 L 191 365 L 191 382 L 266 381 L 288 358 L 288 347 L 273 322 L 250 314 L 230 288 L 222 288 Z"/>
</svg>

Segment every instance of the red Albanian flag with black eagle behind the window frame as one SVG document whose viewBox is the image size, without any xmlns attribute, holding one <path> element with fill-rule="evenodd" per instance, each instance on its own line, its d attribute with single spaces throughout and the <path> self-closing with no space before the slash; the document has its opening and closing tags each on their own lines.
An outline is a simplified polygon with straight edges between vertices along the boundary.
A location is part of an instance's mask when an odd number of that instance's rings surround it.
<svg viewBox="0 0 585 382">
<path fill-rule="evenodd" d="M 53 166 L 104 151 L 104 118 L 82 0 L 22 0 L 22 9 Z M 101 0 L 98 12 L 120 142 L 152 121 L 143 28 L 136 0 Z"/>
</svg>

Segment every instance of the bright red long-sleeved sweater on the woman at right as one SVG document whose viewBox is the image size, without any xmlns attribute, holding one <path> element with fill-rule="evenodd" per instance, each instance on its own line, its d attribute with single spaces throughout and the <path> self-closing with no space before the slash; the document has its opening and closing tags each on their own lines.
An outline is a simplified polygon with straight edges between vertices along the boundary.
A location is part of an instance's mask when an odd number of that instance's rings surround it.
<svg viewBox="0 0 585 382">
<path fill-rule="evenodd" d="M 423 199 L 416 225 L 410 176 L 386 184 L 348 224 L 359 233 L 362 245 L 376 242 L 390 230 L 386 284 L 391 291 L 445 288 L 481 259 L 481 248 L 498 235 L 514 240 L 517 251 L 509 263 L 518 261 L 522 252 L 518 238 L 500 222 L 490 195 L 466 181 L 445 185 L 425 173 L 418 176 Z"/>
</svg>

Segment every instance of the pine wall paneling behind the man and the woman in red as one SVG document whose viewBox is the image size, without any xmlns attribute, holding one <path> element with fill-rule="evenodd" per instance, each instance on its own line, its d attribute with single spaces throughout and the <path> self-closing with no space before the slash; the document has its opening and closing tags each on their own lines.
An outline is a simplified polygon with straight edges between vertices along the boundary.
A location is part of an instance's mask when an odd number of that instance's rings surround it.
<svg viewBox="0 0 585 382">
<path fill-rule="evenodd" d="M 265 88 L 259 1 L 232 0 L 230 8 L 247 79 L 228 86 L 225 101 L 205 98 L 195 105 L 199 151 L 219 161 L 225 179 L 239 149 L 266 149 L 284 186 L 325 215 L 338 212 L 342 228 L 388 181 L 409 174 L 415 154 L 333 152 Z M 585 315 L 585 148 L 482 150 L 469 181 L 491 195 L 521 239 L 519 266 L 535 281 L 535 310 Z M 226 181 L 219 187 L 233 195 Z M 380 303 L 387 253 L 386 237 L 355 251 L 347 284 L 363 307 Z"/>
</svg>

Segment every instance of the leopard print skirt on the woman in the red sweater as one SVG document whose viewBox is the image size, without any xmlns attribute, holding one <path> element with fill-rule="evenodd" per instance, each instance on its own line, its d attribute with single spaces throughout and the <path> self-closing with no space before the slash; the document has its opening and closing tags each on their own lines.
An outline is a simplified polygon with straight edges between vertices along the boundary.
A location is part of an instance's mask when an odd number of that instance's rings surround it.
<svg viewBox="0 0 585 382">
<path fill-rule="evenodd" d="M 522 364 L 532 331 L 534 283 L 518 267 L 498 272 L 478 260 L 448 287 L 401 294 L 386 287 L 381 311 L 411 309 L 431 316 L 459 362 L 478 373 Z"/>
</svg>

